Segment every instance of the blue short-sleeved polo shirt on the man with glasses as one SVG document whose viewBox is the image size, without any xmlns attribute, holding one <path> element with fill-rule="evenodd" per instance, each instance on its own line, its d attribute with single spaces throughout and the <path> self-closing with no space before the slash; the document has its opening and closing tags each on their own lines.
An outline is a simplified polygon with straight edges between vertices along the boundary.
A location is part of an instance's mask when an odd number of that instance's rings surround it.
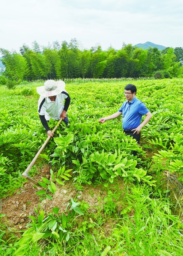
<svg viewBox="0 0 183 256">
<path fill-rule="evenodd" d="M 142 116 L 149 112 L 145 104 L 135 97 L 132 101 L 123 102 L 121 108 L 118 110 L 123 114 L 123 129 L 131 130 L 140 125 Z"/>
</svg>

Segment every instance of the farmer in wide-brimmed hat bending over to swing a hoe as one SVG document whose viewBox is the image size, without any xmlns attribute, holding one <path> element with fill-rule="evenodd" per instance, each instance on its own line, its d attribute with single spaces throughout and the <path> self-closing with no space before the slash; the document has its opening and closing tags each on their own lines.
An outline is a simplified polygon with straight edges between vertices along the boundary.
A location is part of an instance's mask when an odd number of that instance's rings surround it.
<svg viewBox="0 0 183 256">
<path fill-rule="evenodd" d="M 69 120 L 66 116 L 70 104 L 69 94 L 65 90 L 64 81 L 47 80 L 44 86 L 37 87 L 40 95 L 38 101 L 38 113 L 43 127 L 46 129 L 47 136 L 53 137 L 54 133 L 50 131 L 47 124 L 50 118 L 62 120 L 67 125 Z M 64 104 L 65 99 L 65 104 Z"/>
</svg>

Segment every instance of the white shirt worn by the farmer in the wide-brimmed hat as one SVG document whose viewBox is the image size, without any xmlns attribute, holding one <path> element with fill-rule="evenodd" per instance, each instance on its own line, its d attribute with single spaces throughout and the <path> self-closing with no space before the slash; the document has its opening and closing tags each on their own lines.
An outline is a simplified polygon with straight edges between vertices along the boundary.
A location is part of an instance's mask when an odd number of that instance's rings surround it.
<svg viewBox="0 0 183 256">
<path fill-rule="evenodd" d="M 53 118 L 54 120 L 60 119 L 62 111 L 67 111 L 68 109 L 68 106 L 66 106 L 67 104 L 64 106 L 64 99 L 67 99 L 68 97 L 69 94 L 66 90 L 63 90 L 60 94 L 57 94 L 55 101 L 51 101 L 49 97 L 40 96 L 38 101 L 39 115 L 45 116 L 47 121 L 49 121 L 50 118 Z"/>
</svg>

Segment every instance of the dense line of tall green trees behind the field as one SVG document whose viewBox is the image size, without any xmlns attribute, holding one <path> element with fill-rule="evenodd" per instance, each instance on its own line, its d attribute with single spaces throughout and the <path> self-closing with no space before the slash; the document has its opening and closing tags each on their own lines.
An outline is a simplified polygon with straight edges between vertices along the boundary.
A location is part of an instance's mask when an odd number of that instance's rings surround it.
<svg viewBox="0 0 183 256">
<path fill-rule="evenodd" d="M 3 76 L 10 80 L 67 79 L 67 78 L 121 78 L 183 77 L 183 49 L 165 48 L 143 50 L 123 44 L 122 49 L 100 45 L 90 50 L 80 50 L 76 38 L 68 44 L 58 41 L 40 46 L 36 41 L 32 48 L 23 44 L 20 53 L 0 49 L 5 65 Z"/>
</svg>

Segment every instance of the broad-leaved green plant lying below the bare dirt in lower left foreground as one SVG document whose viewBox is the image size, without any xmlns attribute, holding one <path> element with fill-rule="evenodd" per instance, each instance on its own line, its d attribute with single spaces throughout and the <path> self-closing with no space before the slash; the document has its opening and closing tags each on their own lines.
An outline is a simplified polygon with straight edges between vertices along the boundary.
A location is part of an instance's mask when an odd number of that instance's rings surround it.
<svg viewBox="0 0 183 256">
<path fill-rule="evenodd" d="M 60 241 L 60 246 L 69 242 L 72 236 L 69 222 L 76 213 L 83 214 L 78 207 L 80 203 L 74 202 L 72 198 L 70 200 L 71 202 L 66 207 L 67 215 L 64 212 L 59 215 L 59 208 L 54 207 L 53 213 L 46 213 L 41 210 L 37 219 L 34 216 L 28 216 L 32 223 L 28 225 L 29 228 L 24 231 L 22 238 L 16 243 L 19 247 L 14 255 L 26 255 L 27 251 L 33 245 L 37 245 L 39 240 L 48 237 L 52 241 Z"/>
</svg>

